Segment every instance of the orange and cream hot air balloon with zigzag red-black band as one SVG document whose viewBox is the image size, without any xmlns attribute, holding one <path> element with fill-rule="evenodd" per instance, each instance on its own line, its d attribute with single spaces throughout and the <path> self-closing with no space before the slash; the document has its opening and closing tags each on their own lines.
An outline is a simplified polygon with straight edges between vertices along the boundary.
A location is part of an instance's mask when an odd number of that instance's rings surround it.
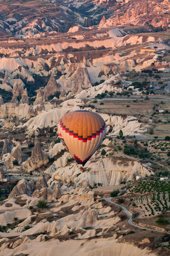
<svg viewBox="0 0 170 256">
<path fill-rule="evenodd" d="M 92 111 L 68 112 L 58 123 L 59 139 L 74 160 L 82 166 L 99 148 L 105 135 L 103 118 Z"/>
</svg>

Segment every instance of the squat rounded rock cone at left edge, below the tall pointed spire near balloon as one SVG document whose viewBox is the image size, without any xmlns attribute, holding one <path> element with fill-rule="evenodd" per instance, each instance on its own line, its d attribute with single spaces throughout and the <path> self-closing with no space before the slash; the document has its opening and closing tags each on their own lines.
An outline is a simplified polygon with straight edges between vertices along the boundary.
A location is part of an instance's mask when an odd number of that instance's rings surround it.
<svg viewBox="0 0 170 256">
<path fill-rule="evenodd" d="M 33 189 L 27 180 L 20 180 L 16 186 L 12 189 L 11 193 L 8 195 L 8 199 L 14 198 L 21 195 L 31 196 L 33 193 Z"/>
</svg>

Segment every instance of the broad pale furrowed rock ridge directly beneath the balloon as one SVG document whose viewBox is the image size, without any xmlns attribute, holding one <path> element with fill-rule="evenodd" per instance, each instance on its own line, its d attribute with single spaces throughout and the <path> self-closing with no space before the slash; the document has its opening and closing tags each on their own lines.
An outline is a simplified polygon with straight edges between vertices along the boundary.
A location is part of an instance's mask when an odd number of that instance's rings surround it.
<svg viewBox="0 0 170 256">
<path fill-rule="evenodd" d="M 101 161 L 98 161 L 96 154 L 88 161 L 88 172 L 81 174 L 79 174 L 79 168 L 76 163 L 72 163 L 71 166 L 62 167 L 58 166 L 58 164 L 55 165 L 54 162 L 55 169 L 53 169 L 52 173 L 50 172 L 52 178 L 48 181 L 48 184 L 53 181 L 54 176 L 57 176 L 62 181 L 67 179 L 76 184 L 80 184 L 86 180 L 91 186 L 95 180 L 95 183 L 102 183 L 103 186 L 112 186 L 120 184 L 121 181 L 135 180 L 136 175 L 149 176 L 152 174 L 149 167 L 144 167 L 136 160 L 105 157 Z M 47 169 L 45 172 L 48 173 L 48 171 L 50 170 Z"/>
</svg>

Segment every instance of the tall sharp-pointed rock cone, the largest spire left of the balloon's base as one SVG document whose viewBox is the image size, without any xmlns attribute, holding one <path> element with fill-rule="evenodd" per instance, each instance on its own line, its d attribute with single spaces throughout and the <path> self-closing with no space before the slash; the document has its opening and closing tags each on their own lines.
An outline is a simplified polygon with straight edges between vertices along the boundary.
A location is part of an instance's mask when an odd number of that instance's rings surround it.
<svg viewBox="0 0 170 256">
<path fill-rule="evenodd" d="M 38 139 L 35 138 L 34 147 L 31 152 L 30 158 L 28 158 L 24 163 L 23 167 L 27 170 L 31 170 L 40 167 L 48 162 L 48 157 L 46 153 L 41 150 Z"/>
</svg>

